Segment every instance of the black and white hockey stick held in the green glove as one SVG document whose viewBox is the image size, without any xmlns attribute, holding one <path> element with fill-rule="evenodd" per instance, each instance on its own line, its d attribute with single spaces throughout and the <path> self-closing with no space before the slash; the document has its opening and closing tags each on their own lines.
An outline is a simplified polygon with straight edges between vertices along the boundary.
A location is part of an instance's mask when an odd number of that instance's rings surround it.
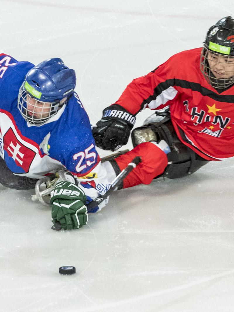
<svg viewBox="0 0 234 312">
<path fill-rule="evenodd" d="M 112 181 L 111 186 L 109 190 L 102 196 L 96 197 L 92 202 L 89 202 L 87 204 L 87 210 L 88 212 L 99 205 L 101 202 L 103 202 L 109 195 L 114 191 L 114 189 L 119 186 L 120 183 L 123 182 L 124 178 L 134 169 L 136 166 L 141 162 L 140 156 L 136 156 L 125 169 L 123 169 L 117 177 Z M 52 227 L 52 230 L 60 231 L 62 229 L 61 224 L 59 222 L 56 222 Z"/>
</svg>

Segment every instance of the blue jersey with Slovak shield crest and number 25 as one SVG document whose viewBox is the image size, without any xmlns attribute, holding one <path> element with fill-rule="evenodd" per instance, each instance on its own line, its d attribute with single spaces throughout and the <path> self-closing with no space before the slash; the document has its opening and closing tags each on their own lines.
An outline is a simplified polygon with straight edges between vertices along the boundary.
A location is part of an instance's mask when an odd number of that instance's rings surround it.
<svg viewBox="0 0 234 312">
<path fill-rule="evenodd" d="M 41 178 L 61 165 L 77 177 L 99 163 L 90 121 L 74 93 L 45 124 L 29 124 L 17 108 L 19 88 L 34 65 L 0 55 L 0 154 L 12 173 Z"/>
</svg>

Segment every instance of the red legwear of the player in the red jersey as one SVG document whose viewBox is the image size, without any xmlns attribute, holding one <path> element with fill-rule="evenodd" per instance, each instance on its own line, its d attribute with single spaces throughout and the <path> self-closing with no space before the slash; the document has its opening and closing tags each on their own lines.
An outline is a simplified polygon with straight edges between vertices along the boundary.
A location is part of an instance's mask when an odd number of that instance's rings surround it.
<svg viewBox="0 0 234 312">
<path fill-rule="evenodd" d="M 168 164 L 167 155 L 151 142 L 137 145 L 126 154 L 115 158 L 115 161 L 122 171 L 136 156 L 141 156 L 141 163 L 124 179 L 124 188 L 151 183 L 155 177 L 163 173 Z"/>
</svg>

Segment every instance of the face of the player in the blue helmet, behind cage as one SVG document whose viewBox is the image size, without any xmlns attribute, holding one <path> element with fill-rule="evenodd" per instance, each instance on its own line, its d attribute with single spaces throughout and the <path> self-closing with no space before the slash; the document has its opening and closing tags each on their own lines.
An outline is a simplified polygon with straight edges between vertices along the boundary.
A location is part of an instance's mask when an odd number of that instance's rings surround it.
<svg viewBox="0 0 234 312">
<path fill-rule="evenodd" d="M 41 119 L 46 118 L 50 114 L 51 103 L 40 102 L 30 95 L 27 94 L 27 112 L 28 115 L 33 116 L 33 118 Z"/>
</svg>

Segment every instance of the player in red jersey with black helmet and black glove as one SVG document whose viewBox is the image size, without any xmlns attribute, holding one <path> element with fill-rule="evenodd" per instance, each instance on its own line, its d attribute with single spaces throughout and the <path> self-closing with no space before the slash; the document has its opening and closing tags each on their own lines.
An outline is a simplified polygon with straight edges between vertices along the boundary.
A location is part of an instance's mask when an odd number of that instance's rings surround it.
<svg viewBox="0 0 234 312">
<path fill-rule="evenodd" d="M 175 54 L 134 79 L 119 100 L 103 110 L 93 135 L 100 148 L 118 149 L 127 143 L 135 115 L 147 107 L 156 110 L 144 126 L 133 130 L 133 145 L 140 155 L 145 153 L 140 143 L 151 144 L 154 160 L 149 168 L 158 164 L 155 177 L 178 178 L 208 161 L 234 156 L 233 105 L 234 19 L 228 16 L 210 27 L 203 48 Z M 129 158 L 131 153 L 134 150 Z M 120 156 L 116 165 L 122 169 L 125 161 L 126 156 Z M 135 184 L 131 174 L 124 181 L 124 187 Z"/>
</svg>

